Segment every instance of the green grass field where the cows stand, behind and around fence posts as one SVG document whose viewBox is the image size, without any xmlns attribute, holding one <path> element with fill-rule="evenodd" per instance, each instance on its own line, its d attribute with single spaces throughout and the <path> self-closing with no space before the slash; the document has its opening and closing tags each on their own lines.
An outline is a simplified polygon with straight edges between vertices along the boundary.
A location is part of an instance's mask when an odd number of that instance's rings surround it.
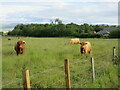
<svg viewBox="0 0 120 90">
<path fill-rule="evenodd" d="M 65 88 L 64 59 L 70 60 L 72 88 L 117 88 L 118 66 L 112 63 L 112 48 L 118 47 L 117 39 L 80 39 L 92 44 L 96 80 L 91 81 L 90 55 L 80 54 L 80 45 L 68 44 L 70 38 L 30 38 L 26 41 L 23 55 L 16 56 L 14 45 L 19 39 L 2 38 L 3 88 L 22 88 L 22 70 L 29 69 L 32 88 Z M 117 52 L 118 52 L 118 48 Z M 86 61 L 87 60 L 87 61 Z M 75 63 L 81 61 L 81 63 Z M 46 71 L 48 70 L 48 71 Z M 40 74 L 39 72 L 44 72 Z M 36 74 L 37 73 L 37 74 Z"/>
</svg>

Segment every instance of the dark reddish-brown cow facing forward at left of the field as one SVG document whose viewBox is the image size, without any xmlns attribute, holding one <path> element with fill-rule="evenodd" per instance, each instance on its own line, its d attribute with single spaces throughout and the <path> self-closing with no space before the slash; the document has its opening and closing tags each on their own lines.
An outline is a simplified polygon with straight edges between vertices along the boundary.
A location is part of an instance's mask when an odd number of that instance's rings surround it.
<svg viewBox="0 0 120 90">
<path fill-rule="evenodd" d="M 15 45 L 15 51 L 16 51 L 16 54 L 18 55 L 18 54 L 23 54 L 23 52 L 24 52 L 24 49 L 25 49 L 25 44 L 26 42 L 25 41 L 22 41 L 22 40 L 20 40 L 20 41 L 18 41 L 17 43 L 16 43 L 16 45 Z"/>
</svg>

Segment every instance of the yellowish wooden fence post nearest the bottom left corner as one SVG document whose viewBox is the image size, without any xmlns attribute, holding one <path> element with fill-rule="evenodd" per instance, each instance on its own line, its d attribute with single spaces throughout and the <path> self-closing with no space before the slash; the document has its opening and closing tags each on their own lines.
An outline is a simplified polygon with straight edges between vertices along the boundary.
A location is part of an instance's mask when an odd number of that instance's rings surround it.
<svg viewBox="0 0 120 90">
<path fill-rule="evenodd" d="M 23 88 L 24 90 L 31 90 L 30 89 L 30 77 L 29 77 L 29 70 L 23 70 Z"/>
</svg>

